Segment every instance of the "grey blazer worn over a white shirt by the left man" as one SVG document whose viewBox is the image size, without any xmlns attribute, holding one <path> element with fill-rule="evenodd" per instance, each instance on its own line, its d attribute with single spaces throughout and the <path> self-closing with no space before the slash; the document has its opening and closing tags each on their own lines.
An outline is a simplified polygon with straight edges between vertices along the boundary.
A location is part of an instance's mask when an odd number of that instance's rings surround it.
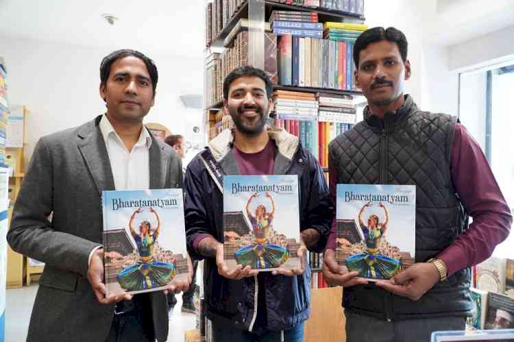
<svg viewBox="0 0 514 342">
<path fill-rule="evenodd" d="M 103 342 L 110 330 L 114 304 L 99 304 L 86 278 L 101 244 L 101 191 L 114 190 L 100 119 L 40 138 L 14 204 L 8 243 L 46 264 L 27 341 Z M 175 151 L 152 136 L 149 155 L 150 188 L 182 188 Z M 151 293 L 151 302 L 156 337 L 166 341 L 164 293 Z"/>
</svg>

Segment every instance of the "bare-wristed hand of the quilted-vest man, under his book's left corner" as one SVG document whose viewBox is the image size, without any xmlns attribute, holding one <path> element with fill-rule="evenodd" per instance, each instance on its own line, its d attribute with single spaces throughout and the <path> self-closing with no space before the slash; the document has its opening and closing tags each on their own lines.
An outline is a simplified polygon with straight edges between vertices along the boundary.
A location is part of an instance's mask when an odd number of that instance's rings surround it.
<svg viewBox="0 0 514 342">
<path fill-rule="evenodd" d="M 345 266 L 340 266 L 336 261 L 336 252 L 333 249 L 325 249 L 323 252 L 323 277 L 329 285 L 354 286 L 365 285 L 367 280 L 358 277 L 358 272 L 348 272 Z"/>
</svg>

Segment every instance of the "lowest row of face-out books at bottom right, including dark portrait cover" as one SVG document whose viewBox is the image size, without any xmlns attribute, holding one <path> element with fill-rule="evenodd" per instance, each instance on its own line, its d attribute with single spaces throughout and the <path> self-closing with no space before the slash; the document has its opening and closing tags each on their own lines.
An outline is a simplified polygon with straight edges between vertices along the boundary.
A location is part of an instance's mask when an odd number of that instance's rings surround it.
<svg viewBox="0 0 514 342">
<path fill-rule="evenodd" d="M 473 314 L 467 324 L 478 330 L 514 328 L 514 298 L 500 293 L 471 290 Z"/>
</svg>

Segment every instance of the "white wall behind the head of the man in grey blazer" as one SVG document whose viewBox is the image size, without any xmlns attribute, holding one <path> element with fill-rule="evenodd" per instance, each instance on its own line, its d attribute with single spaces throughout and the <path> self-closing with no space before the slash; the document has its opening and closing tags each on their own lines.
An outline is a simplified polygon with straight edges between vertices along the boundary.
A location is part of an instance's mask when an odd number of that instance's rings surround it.
<svg viewBox="0 0 514 342">
<path fill-rule="evenodd" d="M 92 120 L 105 111 L 99 96 L 99 66 L 112 49 L 93 49 L 0 36 L 0 55 L 8 67 L 8 97 L 26 105 L 27 155 L 38 139 Z M 197 59 L 154 55 L 142 51 L 157 65 L 156 104 L 145 122 L 165 125 L 184 134 L 193 125 L 201 129 L 201 110 L 184 108 L 179 95 L 203 93 L 202 56 Z"/>
</svg>

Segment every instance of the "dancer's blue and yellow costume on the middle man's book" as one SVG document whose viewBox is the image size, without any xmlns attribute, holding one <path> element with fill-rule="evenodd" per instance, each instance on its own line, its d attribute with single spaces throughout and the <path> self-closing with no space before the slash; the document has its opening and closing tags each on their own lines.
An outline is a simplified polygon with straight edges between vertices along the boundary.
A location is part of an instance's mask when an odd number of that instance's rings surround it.
<svg viewBox="0 0 514 342">
<path fill-rule="evenodd" d="M 271 219 L 265 217 L 257 220 L 252 217 L 250 221 L 254 228 L 256 244 L 238 249 L 234 253 L 236 262 L 243 267 L 250 266 L 252 269 L 271 269 L 286 262 L 289 259 L 289 250 L 279 245 L 267 243 L 266 233 L 271 226 Z"/>
</svg>

